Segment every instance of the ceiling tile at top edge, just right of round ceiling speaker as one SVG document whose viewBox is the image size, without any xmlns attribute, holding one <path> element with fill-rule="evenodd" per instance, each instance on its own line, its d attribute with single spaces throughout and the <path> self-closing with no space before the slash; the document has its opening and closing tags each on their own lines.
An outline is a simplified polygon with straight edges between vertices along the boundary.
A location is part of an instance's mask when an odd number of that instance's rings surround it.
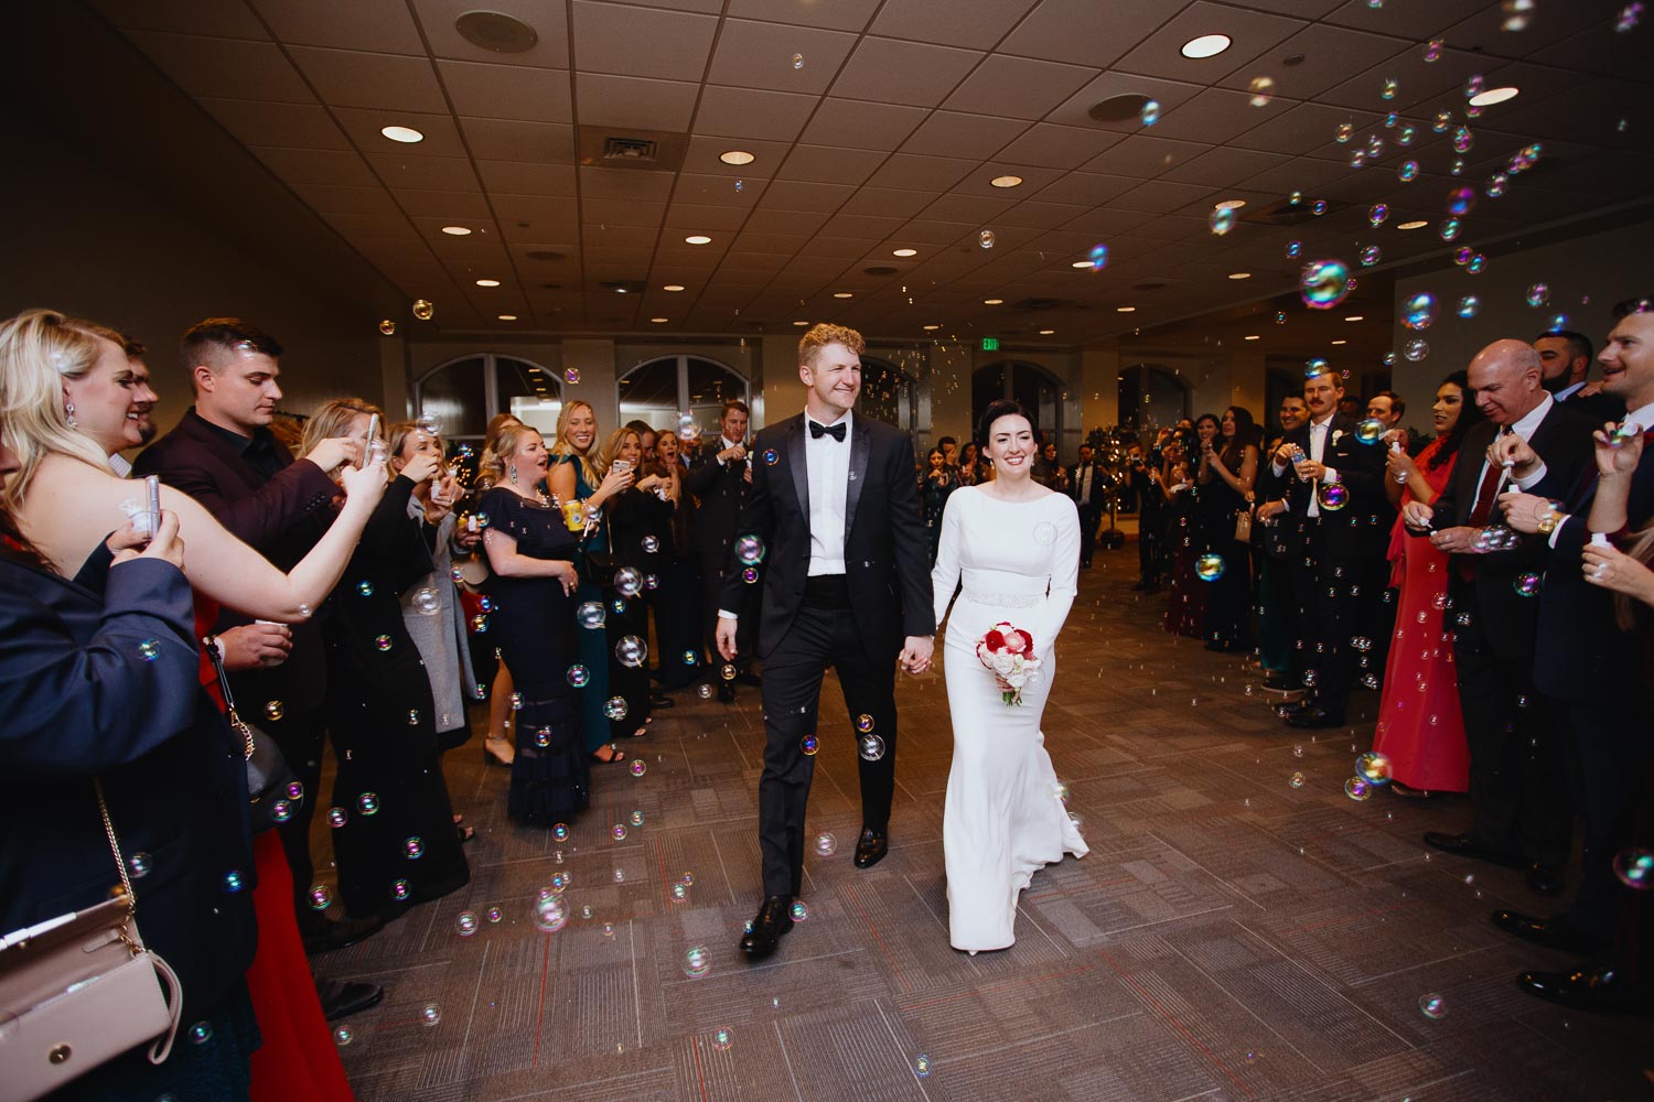
<svg viewBox="0 0 1654 1102">
<path fill-rule="evenodd" d="M 582 73 L 698 81 L 718 20 L 619 3 L 574 0 L 574 58 Z"/>
</svg>

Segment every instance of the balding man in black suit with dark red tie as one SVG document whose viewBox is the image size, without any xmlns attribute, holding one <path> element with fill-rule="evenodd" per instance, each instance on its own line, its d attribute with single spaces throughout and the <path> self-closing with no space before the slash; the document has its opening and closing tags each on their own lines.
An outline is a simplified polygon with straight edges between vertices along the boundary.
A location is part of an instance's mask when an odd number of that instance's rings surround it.
<svg viewBox="0 0 1654 1102">
<path fill-rule="evenodd" d="M 1527 867 L 1533 891 L 1556 895 L 1573 813 L 1561 740 L 1533 681 L 1540 601 L 1525 595 L 1545 568 L 1546 547 L 1502 527 L 1492 532 L 1512 547 L 1490 544 L 1487 535 L 1507 482 L 1543 497 L 1565 496 L 1580 482 L 1591 463 L 1589 425 L 1545 392 L 1540 357 L 1520 340 L 1495 340 L 1477 352 L 1469 375 L 1487 421 L 1465 435 L 1460 461 L 1434 506 L 1414 501 L 1403 512 L 1409 535 L 1429 535 L 1451 557 L 1447 615 L 1470 745 L 1472 826 L 1464 834 L 1431 831 L 1424 841 Z M 1518 448 L 1545 463 L 1515 466 Z"/>
</svg>

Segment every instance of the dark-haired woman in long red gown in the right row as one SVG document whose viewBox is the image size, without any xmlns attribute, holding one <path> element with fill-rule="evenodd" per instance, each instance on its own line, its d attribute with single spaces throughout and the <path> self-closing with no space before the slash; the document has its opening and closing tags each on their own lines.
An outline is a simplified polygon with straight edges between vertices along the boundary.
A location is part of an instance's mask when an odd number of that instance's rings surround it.
<svg viewBox="0 0 1654 1102">
<path fill-rule="evenodd" d="M 1480 420 L 1469 378 L 1454 372 L 1436 390 L 1436 439 L 1413 458 L 1404 439 L 1391 441 L 1389 501 L 1431 504 L 1452 477 L 1459 443 Z M 1427 540 L 1409 540 L 1401 517 L 1389 534 L 1389 583 L 1396 600 L 1396 636 L 1389 643 L 1384 696 L 1373 748 L 1389 758 L 1391 790 L 1401 796 L 1470 788 L 1470 750 L 1459 712 L 1452 664 L 1454 613 L 1447 605 L 1447 555 Z"/>
</svg>

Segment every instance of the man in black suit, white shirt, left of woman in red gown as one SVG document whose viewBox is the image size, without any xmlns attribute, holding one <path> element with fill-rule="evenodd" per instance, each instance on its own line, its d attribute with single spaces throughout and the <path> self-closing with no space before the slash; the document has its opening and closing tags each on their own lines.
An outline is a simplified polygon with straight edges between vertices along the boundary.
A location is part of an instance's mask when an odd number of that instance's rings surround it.
<svg viewBox="0 0 1654 1102">
<path fill-rule="evenodd" d="M 1282 502 L 1272 514 L 1298 606 L 1293 672 L 1308 689 L 1279 709 L 1292 727 L 1343 725 L 1356 674 L 1351 638 L 1371 623 L 1368 608 L 1384 590 L 1384 449 L 1356 436 L 1356 420 L 1338 413 L 1341 398 L 1325 363 L 1303 380 L 1308 421 L 1282 435 L 1264 479 L 1264 497 Z"/>
</svg>

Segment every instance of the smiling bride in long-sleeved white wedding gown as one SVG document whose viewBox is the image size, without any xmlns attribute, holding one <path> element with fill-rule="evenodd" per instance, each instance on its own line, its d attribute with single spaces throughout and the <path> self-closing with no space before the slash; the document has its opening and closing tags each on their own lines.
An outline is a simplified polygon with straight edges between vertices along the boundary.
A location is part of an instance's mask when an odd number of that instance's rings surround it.
<svg viewBox="0 0 1654 1102">
<path fill-rule="evenodd" d="M 954 948 L 1016 943 L 1017 895 L 1034 872 L 1088 849 L 1059 796 L 1040 715 L 1057 672 L 1054 643 L 1073 605 L 1080 517 L 1073 501 L 1030 477 L 1039 443 L 1029 413 L 996 401 L 982 416 L 982 454 L 994 481 L 948 497 L 931 585 L 948 620 L 946 681 L 953 768 L 943 811 L 948 940 Z M 1034 636 L 1040 677 L 1007 705 L 976 658 L 976 641 L 999 621 Z"/>
</svg>

